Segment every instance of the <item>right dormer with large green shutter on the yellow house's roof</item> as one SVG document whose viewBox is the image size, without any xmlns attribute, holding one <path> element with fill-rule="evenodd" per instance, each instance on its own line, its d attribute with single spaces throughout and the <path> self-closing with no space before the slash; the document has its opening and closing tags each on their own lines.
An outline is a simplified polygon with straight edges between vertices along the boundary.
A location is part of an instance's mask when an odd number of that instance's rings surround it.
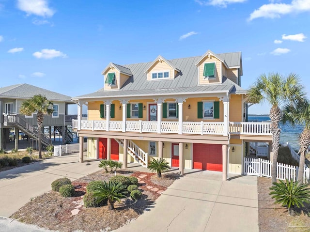
<svg viewBox="0 0 310 232">
<path fill-rule="evenodd" d="M 196 63 L 198 66 L 199 84 L 222 83 L 223 73 L 228 68 L 225 61 L 208 50 Z"/>
</svg>

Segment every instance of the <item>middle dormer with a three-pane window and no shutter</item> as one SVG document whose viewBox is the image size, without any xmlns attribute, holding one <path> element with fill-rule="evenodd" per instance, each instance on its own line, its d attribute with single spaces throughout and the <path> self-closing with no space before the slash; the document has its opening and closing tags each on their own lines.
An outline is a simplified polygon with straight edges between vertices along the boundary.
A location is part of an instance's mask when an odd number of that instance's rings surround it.
<svg viewBox="0 0 310 232">
<path fill-rule="evenodd" d="M 160 55 L 144 71 L 149 81 L 174 79 L 178 72 L 180 69 Z"/>
</svg>

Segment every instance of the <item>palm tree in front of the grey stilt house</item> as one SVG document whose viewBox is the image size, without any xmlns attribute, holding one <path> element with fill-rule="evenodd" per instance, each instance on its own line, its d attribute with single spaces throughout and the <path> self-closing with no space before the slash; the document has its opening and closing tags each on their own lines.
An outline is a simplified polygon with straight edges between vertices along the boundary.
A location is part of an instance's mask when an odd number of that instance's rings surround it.
<svg viewBox="0 0 310 232">
<path fill-rule="evenodd" d="M 53 113 L 53 103 L 47 100 L 46 96 L 41 94 L 34 95 L 30 99 L 24 101 L 20 107 L 20 113 L 31 116 L 32 113 L 37 113 L 38 138 L 39 138 L 39 158 L 41 154 L 41 127 L 43 124 L 44 115 Z"/>
</svg>

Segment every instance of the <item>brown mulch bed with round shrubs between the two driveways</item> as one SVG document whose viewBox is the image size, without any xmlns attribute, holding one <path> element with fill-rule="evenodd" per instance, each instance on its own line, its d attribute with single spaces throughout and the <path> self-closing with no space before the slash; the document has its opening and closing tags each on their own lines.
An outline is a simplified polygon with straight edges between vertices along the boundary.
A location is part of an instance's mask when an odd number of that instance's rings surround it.
<svg viewBox="0 0 310 232">
<path fill-rule="evenodd" d="M 147 186 L 158 188 L 158 191 L 164 191 L 178 178 L 177 176 L 168 178 L 167 176 L 164 177 L 165 175 L 163 178 L 156 178 L 155 173 L 128 170 L 118 170 L 117 174 L 132 175 L 138 178 L 143 175 L 141 180 L 144 183 L 139 186 L 142 191 L 140 200 L 123 199 L 114 204 L 115 210 L 112 211 L 108 210 L 107 205 L 98 208 L 84 207 L 82 197 L 86 192 L 87 184 L 93 180 L 108 181 L 114 176 L 114 174 L 103 173 L 102 170 L 99 170 L 72 183 L 75 186 L 75 197 L 63 198 L 58 192 L 49 191 L 28 202 L 11 217 L 27 224 L 35 224 L 49 230 L 62 232 L 75 230 L 85 232 L 111 231 L 135 220 L 145 210 L 153 207 L 152 204 L 155 203 L 160 193 L 147 188 Z M 78 214 L 73 215 L 73 210 L 77 209 L 79 210 Z"/>
</svg>

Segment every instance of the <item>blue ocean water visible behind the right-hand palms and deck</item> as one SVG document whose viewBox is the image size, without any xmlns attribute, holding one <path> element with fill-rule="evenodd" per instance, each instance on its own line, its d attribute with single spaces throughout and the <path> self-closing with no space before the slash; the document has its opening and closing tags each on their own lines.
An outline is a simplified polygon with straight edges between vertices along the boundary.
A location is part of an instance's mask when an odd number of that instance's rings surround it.
<svg viewBox="0 0 310 232">
<path fill-rule="evenodd" d="M 248 122 L 262 122 L 270 120 L 268 116 L 248 116 Z M 297 125 L 292 127 L 290 124 L 281 124 L 280 142 L 289 142 L 294 150 L 299 150 L 298 137 L 303 131 L 303 127 Z"/>
</svg>

